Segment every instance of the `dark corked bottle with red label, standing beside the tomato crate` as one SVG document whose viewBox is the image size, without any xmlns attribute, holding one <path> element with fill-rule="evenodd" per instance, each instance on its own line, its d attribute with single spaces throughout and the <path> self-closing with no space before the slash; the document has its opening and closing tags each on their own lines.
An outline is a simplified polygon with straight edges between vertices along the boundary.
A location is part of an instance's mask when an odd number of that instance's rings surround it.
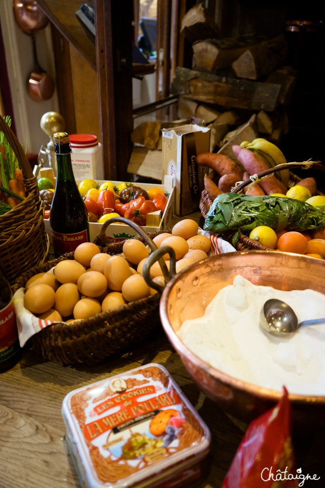
<svg viewBox="0 0 325 488">
<path fill-rule="evenodd" d="M 78 190 L 66 132 L 53 134 L 57 162 L 56 187 L 51 205 L 50 227 L 55 258 L 89 241 L 87 209 Z"/>
</svg>

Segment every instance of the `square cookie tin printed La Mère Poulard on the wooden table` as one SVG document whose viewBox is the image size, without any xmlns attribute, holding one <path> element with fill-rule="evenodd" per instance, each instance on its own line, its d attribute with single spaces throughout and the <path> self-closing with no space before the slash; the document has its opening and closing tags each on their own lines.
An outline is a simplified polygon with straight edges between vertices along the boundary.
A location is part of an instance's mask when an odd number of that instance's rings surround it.
<svg viewBox="0 0 325 488">
<path fill-rule="evenodd" d="M 207 474 L 209 429 L 160 364 L 71 391 L 62 417 L 83 488 L 187 488 Z"/>
</svg>

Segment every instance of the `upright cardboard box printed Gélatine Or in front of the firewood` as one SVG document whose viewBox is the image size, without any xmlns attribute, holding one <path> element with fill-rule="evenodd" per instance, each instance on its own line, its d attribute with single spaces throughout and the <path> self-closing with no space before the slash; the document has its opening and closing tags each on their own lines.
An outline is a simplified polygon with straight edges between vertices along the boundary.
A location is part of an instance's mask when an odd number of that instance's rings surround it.
<svg viewBox="0 0 325 488">
<path fill-rule="evenodd" d="M 204 189 L 205 166 L 198 166 L 195 156 L 208 153 L 210 129 L 198 125 L 163 129 L 163 181 L 174 176 L 175 214 L 183 216 L 199 211 Z"/>
</svg>

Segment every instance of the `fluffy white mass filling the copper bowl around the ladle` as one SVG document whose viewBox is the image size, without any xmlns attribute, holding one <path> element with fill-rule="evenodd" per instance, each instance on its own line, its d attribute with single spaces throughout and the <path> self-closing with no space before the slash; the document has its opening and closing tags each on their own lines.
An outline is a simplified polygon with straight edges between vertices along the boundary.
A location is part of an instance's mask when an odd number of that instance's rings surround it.
<svg viewBox="0 0 325 488">
<path fill-rule="evenodd" d="M 194 354 L 234 378 L 278 391 L 285 385 L 292 394 L 325 395 L 325 324 L 274 337 L 259 325 L 269 298 L 288 303 L 298 322 L 325 317 L 322 293 L 280 291 L 236 276 L 203 317 L 183 322 L 178 335 Z"/>
</svg>

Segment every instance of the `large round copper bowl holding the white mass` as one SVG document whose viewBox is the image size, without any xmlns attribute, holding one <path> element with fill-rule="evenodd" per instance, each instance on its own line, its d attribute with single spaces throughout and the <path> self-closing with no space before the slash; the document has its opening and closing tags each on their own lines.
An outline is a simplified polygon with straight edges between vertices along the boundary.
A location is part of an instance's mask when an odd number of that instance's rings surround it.
<svg viewBox="0 0 325 488">
<path fill-rule="evenodd" d="M 248 422 L 273 407 L 282 393 L 212 368 L 193 354 L 176 333 L 184 320 L 202 317 L 215 294 L 231 285 L 236 275 L 278 290 L 309 288 L 325 294 L 325 261 L 277 251 L 219 254 L 184 268 L 161 295 L 161 323 L 194 382 L 224 411 Z M 308 428 L 325 426 L 325 396 L 290 394 L 289 399 L 295 424 Z"/>
</svg>

